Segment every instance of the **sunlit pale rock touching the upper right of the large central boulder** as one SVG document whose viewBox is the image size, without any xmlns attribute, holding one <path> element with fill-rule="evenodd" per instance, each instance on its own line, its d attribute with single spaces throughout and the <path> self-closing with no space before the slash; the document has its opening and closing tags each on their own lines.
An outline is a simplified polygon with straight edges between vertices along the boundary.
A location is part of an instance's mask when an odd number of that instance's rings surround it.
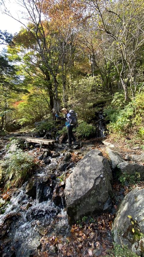
<svg viewBox="0 0 144 257">
<path fill-rule="evenodd" d="M 111 159 L 112 169 L 115 169 L 119 163 L 124 161 L 116 147 L 106 147 L 106 150 Z"/>
</svg>

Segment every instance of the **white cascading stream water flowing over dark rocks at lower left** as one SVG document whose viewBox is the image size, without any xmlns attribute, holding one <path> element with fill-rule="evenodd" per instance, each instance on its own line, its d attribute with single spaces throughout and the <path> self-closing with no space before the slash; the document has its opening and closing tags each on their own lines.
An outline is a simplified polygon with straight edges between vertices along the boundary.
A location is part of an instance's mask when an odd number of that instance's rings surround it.
<svg viewBox="0 0 144 257">
<path fill-rule="evenodd" d="M 36 180 L 31 189 L 33 192 L 26 193 L 29 186 L 26 182 L 12 196 L 5 213 L 0 215 L 2 256 L 33 256 L 45 231 L 47 236 L 61 234 L 67 237 L 70 234 L 65 203 L 58 186 L 60 179 L 50 178 L 53 169 L 56 176 L 59 174 L 56 167 L 60 157 L 50 159 L 50 165 L 41 168 L 30 179 Z M 53 201 L 56 189 L 59 190 L 57 205 Z"/>
</svg>

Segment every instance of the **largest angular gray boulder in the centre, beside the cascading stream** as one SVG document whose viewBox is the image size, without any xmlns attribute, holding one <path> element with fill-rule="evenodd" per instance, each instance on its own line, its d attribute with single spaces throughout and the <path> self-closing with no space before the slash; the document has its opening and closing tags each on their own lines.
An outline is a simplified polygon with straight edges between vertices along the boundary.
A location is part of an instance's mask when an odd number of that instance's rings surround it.
<svg viewBox="0 0 144 257">
<path fill-rule="evenodd" d="M 91 150 L 66 180 L 65 201 L 69 223 L 91 212 L 102 212 L 111 194 L 112 172 L 101 151 Z"/>
</svg>

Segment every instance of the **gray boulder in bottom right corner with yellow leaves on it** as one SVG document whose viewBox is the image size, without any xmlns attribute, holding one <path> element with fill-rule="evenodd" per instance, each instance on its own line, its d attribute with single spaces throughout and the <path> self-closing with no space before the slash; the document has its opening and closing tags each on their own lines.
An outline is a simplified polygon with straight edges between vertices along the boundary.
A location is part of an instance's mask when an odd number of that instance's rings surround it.
<svg viewBox="0 0 144 257">
<path fill-rule="evenodd" d="M 144 239 L 144 189 L 136 187 L 120 204 L 113 224 L 114 241 L 127 244 L 137 255 L 142 255 Z"/>
</svg>

